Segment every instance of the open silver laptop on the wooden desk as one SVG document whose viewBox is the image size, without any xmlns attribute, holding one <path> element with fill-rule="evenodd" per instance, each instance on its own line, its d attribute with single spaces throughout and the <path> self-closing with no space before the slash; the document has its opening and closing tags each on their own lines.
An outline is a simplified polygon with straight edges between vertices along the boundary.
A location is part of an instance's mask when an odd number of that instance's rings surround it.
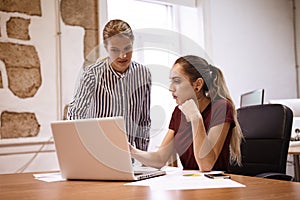
<svg viewBox="0 0 300 200">
<path fill-rule="evenodd" d="M 63 178 L 134 181 L 166 174 L 134 171 L 123 117 L 54 121 L 51 129 Z"/>
</svg>

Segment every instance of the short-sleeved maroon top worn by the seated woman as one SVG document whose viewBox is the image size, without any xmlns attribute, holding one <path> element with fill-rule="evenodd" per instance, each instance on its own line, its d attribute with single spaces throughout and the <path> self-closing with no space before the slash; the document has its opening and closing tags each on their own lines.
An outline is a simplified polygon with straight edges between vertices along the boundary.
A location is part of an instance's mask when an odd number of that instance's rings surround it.
<svg viewBox="0 0 300 200">
<path fill-rule="evenodd" d="M 229 164 L 229 144 L 232 135 L 232 129 L 235 127 L 232 106 L 224 99 L 216 100 L 210 103 L 201 113 L 206 132 L 213 126 L 229 122 L 230 129 L 226 137 L 222 151 L 212 170 L 227 171 Z M 174 144 L 175 149 L 180 156 L 180 161 L 184 169 L 199 170 L 194 150 L 193 150 L 193 133 L 190 122 L 186 121 L 184 114 L 176 106 L 173 111 L 169 124 L 169 129 L 175 131 Z"/>
</svg>

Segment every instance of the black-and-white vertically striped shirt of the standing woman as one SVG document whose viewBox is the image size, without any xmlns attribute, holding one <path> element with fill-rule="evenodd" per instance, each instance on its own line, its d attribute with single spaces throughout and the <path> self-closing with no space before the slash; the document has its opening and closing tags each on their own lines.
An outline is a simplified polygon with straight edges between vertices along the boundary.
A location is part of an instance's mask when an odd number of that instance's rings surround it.
<svg viewBox="0 0 300 200">
<path fill-rule="evenodd" d="M 120 74 L 108 59 L 88 66 L 69 104 L 68 119 L 124 116 L 128 140 L 147 150 L 150 139 L 151 74 L 132 61 Z"/>
</svg>

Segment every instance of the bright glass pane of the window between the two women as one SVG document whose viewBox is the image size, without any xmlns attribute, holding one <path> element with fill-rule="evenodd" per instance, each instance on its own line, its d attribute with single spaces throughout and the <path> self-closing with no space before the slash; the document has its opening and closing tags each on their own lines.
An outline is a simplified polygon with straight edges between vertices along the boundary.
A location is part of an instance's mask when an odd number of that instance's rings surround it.
<svg viewBox="0 0 300 200">
<path fill-rule="evenodd" d="M 108 20 L 122 19 L 129 23 L 135 32 L 133 60 L 148 66 L 151 71 L 149 150 L 153 150 L 161 143 L 176 104 L 168 90 L 170 68 L 177 55 L 170 53 L 174 41 L 162 31 L 174 29 L 172 6 L 137 0 L 107 0 L 107 7 Z"/>
</svg>

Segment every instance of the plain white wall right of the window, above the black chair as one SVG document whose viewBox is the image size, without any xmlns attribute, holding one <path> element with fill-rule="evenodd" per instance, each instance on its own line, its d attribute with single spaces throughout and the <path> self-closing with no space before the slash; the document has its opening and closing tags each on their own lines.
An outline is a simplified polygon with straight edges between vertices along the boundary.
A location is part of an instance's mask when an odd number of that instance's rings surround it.
<svg viewBox="0 0 300 200">
<path fill-rule="evenodd" d="M 265 89 L 265 102 L 297 96 L 291 1 L 198 0 L 198 4 L 206 14 L 206 49 L 223 70 L 237 106 L 242 93 L 258 88 Z"/>
</svg>

